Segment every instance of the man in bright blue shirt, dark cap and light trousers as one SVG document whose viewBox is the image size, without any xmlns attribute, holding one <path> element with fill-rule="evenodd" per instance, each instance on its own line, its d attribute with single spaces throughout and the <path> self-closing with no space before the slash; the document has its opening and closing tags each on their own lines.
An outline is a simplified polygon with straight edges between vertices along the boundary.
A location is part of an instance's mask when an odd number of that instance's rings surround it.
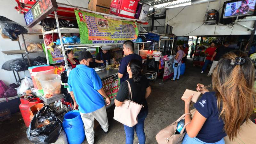
<svg viewBox="0 0 256 144">
<path fill-rule="evenodd" d="M 106 98 L 107 105 L 110 104 L 110 99 L 98 74 L 93 68 L 88 67 L 92 62 L 92 54 L 82 52 L 79 54 L 78 60 L 80 64 L 69 73 L 68 86 L 74 100 L 74 108 L 77 109 L 76 107 L 79 105 L 86 139 L 89 144 L 93 144 L 94 118 L 99 122 L 103 131 L 108 132 L 108 117 L 103 97 Z"/>
</svg>

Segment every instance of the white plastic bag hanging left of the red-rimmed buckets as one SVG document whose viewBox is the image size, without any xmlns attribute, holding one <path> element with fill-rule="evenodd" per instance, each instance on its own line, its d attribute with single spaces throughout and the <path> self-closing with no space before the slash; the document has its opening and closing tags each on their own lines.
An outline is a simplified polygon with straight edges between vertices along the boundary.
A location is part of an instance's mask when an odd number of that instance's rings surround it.
<svg viewBox="0 0 256 144">
<path fill-rule="evenodd" d="M 24 77 L 24 79 L 21 81 L 21 84 L 18 88 L 15 88 L 17 90 L 18 95 L 25 95 L 26 90 L 29 90 L 31 87 L 34 87 L 34 84 L 30 78 L 27 76 Z"/>
</svg>

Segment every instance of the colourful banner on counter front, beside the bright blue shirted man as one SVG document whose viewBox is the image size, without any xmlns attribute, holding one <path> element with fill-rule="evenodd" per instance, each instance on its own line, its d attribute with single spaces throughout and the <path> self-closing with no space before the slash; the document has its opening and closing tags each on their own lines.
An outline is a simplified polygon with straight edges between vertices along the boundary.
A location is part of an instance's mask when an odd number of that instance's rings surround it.
<svg viewBox="0 0 256 144">
<path fill-rule="evenodd" d="M 102 85 L 109 99 L 114 100 L 120 87 L 120 82 L 117 74 L 102 81 Z"/>
</svg>

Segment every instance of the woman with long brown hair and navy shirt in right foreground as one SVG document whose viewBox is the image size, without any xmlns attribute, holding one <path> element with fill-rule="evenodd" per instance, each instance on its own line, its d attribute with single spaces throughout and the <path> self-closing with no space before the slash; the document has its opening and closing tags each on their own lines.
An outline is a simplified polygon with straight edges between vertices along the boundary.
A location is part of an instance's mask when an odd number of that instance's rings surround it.
<svg viewBox="0 0 256 144">
<path fill-rule="evenodd" d="M 194 107 L 195 115 L 185 116 L 187 133 L 182 144 L 215 143 L 224 144 L 224 137 L 236 138 L 240 126 L 249 119 L 253 110 L 254 66 L 246 53 L 232 51 L 219 60 L 212 75 L 212 89 L 209 92 L 197 84 L 197 91 L 203 96 Z M 184 99 L 185 113 L 190 112 L 191 98 Z"/>
</svg>

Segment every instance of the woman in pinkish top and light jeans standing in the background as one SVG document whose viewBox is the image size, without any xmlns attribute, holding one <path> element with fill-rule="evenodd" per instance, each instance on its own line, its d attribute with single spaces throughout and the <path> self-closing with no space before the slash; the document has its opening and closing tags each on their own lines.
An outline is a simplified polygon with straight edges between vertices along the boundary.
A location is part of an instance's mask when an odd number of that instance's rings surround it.
<svg viewBox="0 0 256 144">
<path fill-rule="evenodd" d="M 185 52 L 183 51 L 183 46 L 179 45 L 177 48 L 178 52 L 176 53 L 173 68 L 174 68 L 174 76 L 171 79 L 172 81 L 175 81 L 175 79 L 179 80 L 180 79 L 180 66 L 181 66 L 181 60 L 186 56 Z M 178 63 L 178 65 L 175 66 L 175 63 Z M 178 72 L 178 76 L 177 76 Z M 176 78 L 177 76 L 177 78 Z"/>
</svg>

